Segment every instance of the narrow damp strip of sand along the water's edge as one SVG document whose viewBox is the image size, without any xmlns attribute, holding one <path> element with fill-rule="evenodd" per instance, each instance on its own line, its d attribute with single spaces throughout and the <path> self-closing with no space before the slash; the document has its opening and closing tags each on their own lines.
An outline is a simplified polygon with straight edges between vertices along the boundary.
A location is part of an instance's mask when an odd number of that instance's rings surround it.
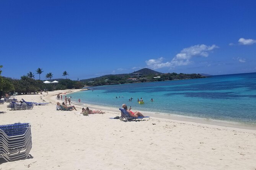
<svg viewBox="0 0 256 170">
<path fill-rule="evenodd" d="M 66 92 L 65 95 L 70 95 L 72 93 L 75 93 L 77 91 L 84 91 L 83 89 L 74 89 L 72 92 Z M 56 94 L 57 95 L 57 94 Z M 56 97 L 56 96 L 55 96 Z M 51 99 L 52 102 L 57 102 L 57 99 L 54 98 L 54 96 Z M 63 102 L 64 100 L 62 100 Z M 116 112 L 119 114 L 119 108 L 115 107 L 109 107 L 109 106 L 100 106 L 96 104 L 86 104 L 86 103 L 77 103 L 72 102 L 72 105 L 78 106 L 78 107 L 89 107 L 90 109 L 98 109 L 103 111 L 111 111 Z M 245 130 L 256 130 L 256 125 L 249 125 L 241 122 L 232 122 L 232 121 L 225 121 L 225 120 L 216 120 L 216 119 L 205 119 L 205 118 L 199 118 L 199 117 L 189 117 L 184 115 L 176 115 L 176 114 L 170 114 L 167 115 L 165 113 L 163 114 L 156 114 L 154 112 L 149 111 L 143 111 L 143 114 L 153 117 L 153 118 L 161 118 L 161 119 L 168 119 L 173 121 L 180 121 L 180 122 L 187 122 L 187 123 L 199 123 L 203 125 L 210 125 L 210 126 L 218 126 L 218 127 L 226 127 L 226 128 L 236 128 L 236 129 L 245 129 Z"/>
</svg>

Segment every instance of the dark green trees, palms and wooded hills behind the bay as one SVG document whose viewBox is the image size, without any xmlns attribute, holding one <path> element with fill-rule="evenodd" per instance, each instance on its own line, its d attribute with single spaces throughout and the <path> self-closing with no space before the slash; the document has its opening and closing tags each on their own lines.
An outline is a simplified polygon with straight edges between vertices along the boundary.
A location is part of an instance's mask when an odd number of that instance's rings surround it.
<svg viewBox="0 0 256 170">
<path fill-rule="evenodd" d="M 3 66 L 0 66 L 0 69 Z M 104 75 L 101 77 L 96 77 L 87 80 L 74 81 L 67 79 L 68 72 L 64 71 L 63 76 L 66 79 L 55 79 L 59 81 L 57 84 L 45 84 L 40 80 L 40 74 L 42 74 L 42 69 L 38 68 L 36 74 L 39 74 L 39 80 L 35 80 L 34 74 L 29 72 L 27 75 L 21 76 L 21 79 L 11 79 L 8 77 L 2 77 L 0 70 L 0 96 L 4 93 L 17 92 L 18 94 L 30 94 L 36 93 L 41 90 L 65 90 L 65 89 L 80 89 L 87 86 L 101 86 L 101 85 L 114 85 L 114 84 L 124 84 L 124 83 L 138 83 L 138 82 L 155 82 L 155 81 L 166 81 L 166 80 L 179 80 L 179 79 L 198 79 L 204 78 L 200 74 L 177 74 L 177 73 L 167 73 L 163 74 L 160 72 L 153 71 L 151 69 L 141 69 L 134 73 L 141 73 L 139 76 L 133 76 L 133 74 L 117 74 L 117 75 Z M 49 72 L 46 74 L 46 78 L 52 79 L 53 74 Z"/>
</svg>

